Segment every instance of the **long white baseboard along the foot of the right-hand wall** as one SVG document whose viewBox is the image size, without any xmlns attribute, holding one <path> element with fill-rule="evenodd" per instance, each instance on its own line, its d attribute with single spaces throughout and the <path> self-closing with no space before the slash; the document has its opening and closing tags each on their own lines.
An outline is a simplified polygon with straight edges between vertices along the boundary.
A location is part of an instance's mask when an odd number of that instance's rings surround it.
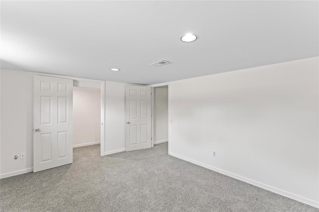
<svg viewBox="0 0 319 212">
<path fill-rule="evenodd" d="M 243 181 L 243 182 L 245 182 L 245 183 L 252 184 L 252 185 L 257 186 L 257 187 L 260 187 L 260 188 L 262 188 L 262 189 L 265 189 L 265 190 L 274 192 L 274 193 L 276 193 L 276 194 L 279 194 L 279 195 L 288 197 L 288 198 L 290 198 L 290 199 L 297 200 L 297 201 L 302 202 L 302 203 L 305 203 L 305 204 L 307 204 L 307 205 L 310 205 L 310 206 L 319 208 L 319 202 L 317 202 L 317 201 L 310 200 L 310 199 L 305 198 L 305 197 L 301 197 L 301 196 L 299 196 L 299 195 L 296 195 L 296 194 L 293 194 L 293 193 L 284 191 L 284 190 L 282 190 L 282 189 L 278 189 L 278 188 L 275 188 L 275 187 L 273 187 L 273 186 L 269 186 L 269 185 L 266 185 L 266 184 L 264 184 L 264 183 L 257 182 L 257 181 L 255 181 L 255 180 L 251 180 L 251 179 L 249 179 L 249 178 L 242 177 L 242 176 L 240 176 L 240 175 L 237 175 L 237 174 L 234 174 L 234 173 L 231 173 L 231 172 L 228 172 L 228 171 L 225 171 L 225 170 L 222 170 L 222 169 L 219 169 L 219 168 L 210 166 L 210 165 L 205 164 L 205 163 L 201 163 L 201 162 L 196 161 L 196 160 L 192 160 L 192 159 L 189 159 L 189 158 L 180 156 L 180 155 L 175 154 L 175 153 L 171 153 L 171 152 L 170 152 L 169 155 L 171 155 L 171 156 L 173 156 L 173 157 L 176 157 L 176 158 L 179 158 L 179 159 L 182 159 L 182 160 L 185 160 L 185 161 L 188 161 L 188 162 L 190 162 L 190 163 L 196 164 L 196 165 L 198 165 L 198 166 L 205 167 L 205 168 L 207 168 L 207 169 L 213 170 L 213 171 L 218 172 L 218 173 L 220 173 L 220 174 L 227 175 L 227 176 L 229 176 L 229 177 L 235 178 L 235 179 L 240 180 L 240 181 Z"/>
</svg>

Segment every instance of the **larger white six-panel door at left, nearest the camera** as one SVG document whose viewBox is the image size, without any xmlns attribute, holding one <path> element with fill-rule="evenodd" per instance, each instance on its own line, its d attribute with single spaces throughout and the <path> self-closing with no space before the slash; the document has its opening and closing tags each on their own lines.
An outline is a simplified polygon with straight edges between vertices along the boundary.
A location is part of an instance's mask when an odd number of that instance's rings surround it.
<svg viewBox="0 0 319 212">
<path fill-rule="evenodd" d="M 73 162 L 73 80 L 34 76 L 33 172 Z"/>
</svg>

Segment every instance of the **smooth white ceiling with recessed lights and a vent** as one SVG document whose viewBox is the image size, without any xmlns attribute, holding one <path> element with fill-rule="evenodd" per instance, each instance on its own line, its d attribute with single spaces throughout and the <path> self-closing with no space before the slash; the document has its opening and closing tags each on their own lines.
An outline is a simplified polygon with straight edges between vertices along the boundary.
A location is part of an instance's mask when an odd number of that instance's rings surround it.
<svg viewBox="0 0 319 212">
<path fill-rule="evenodd" d="M 157 84 L 315 57 L 318 3 L 2 0 L 1 68 Z"/>
</svg>

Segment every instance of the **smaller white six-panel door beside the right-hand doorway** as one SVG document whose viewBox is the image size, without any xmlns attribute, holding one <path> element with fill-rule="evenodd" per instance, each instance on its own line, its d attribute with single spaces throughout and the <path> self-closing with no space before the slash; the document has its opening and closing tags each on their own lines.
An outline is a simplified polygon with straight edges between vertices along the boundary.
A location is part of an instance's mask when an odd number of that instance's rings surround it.
<svg viewBox="0 0 319 212">
<path fill-rule="evenodd" d="M 152 147 L 151 87 L 126 87 L 126 151 Z"/>
</svg>

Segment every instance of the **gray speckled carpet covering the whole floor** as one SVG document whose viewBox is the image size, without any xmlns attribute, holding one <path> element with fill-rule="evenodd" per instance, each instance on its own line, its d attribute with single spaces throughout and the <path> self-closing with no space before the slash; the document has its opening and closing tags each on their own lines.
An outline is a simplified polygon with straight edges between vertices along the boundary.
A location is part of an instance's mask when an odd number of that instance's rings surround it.
<svg viewBox="0 0 319 212">
<path fill-rule="evenodd" d="M 152 149 L 100 156 L 0 180 L 2 212 L 319 212 L 318 209 Z"/>
</svg>

